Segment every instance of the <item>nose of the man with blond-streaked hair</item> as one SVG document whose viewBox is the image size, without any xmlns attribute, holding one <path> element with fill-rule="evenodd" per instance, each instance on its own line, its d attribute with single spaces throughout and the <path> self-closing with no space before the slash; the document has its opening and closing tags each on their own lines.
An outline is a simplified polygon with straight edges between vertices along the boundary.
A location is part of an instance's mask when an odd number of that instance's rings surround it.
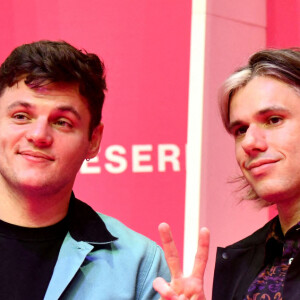
<svg viewBox="0 0 300 300">
<path fill-rule="evenodd" d="M 242 148 L 249 156 L 255 156 L 268 149 L 263 128 L 250 124 L 241 143 Z"/>
</svg>

